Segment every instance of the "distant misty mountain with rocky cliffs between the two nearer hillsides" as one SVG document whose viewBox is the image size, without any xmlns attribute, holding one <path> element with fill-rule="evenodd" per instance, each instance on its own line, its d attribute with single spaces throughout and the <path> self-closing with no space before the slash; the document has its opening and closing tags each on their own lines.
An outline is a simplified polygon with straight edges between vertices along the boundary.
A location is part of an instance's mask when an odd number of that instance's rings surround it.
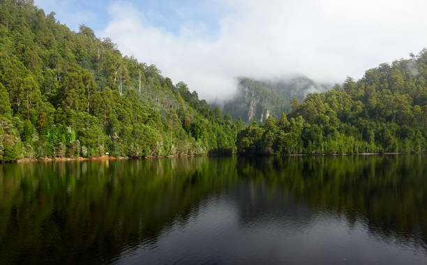
<svg viewBox="0 0 427 265">
<path fill-rule="evenodd" d="M 236 94 L 225 101 L 223 110 L 234 119 L 262 123 L 269 116 L 278 119 L 283 112 L 290 112 L 290 100 L 301 102 L 309 93 L 331 88 L 331 84 L 319 84 L 304 75 L 264 80 L 240 77 Z"/>
</svg>

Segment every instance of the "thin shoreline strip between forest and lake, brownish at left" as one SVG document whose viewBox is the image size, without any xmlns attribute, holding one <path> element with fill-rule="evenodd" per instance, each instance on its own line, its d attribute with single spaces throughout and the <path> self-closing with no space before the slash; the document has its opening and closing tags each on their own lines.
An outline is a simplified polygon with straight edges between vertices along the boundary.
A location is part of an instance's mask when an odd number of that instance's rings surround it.
<svg viewBox="0 0 427 265">
<path fill-rule="evenodd" d="M 277 157 L 286 157 L 286 156 L 398 156 L 398 155 L 426 155 L 427 152 L 388 152 L 388 153 L 292 153 L 280 155 Z M 91 158 L 22 158 L 18 160 L 10 160 L 10 161 L 0 161 L 1 163 L 28 163 L 28 162 L 66 162 L 66 161 L 110 161 L 110 160 L 131 160 L 131 159 L 158 159 L 158 158 L 190 158 L 190 157 L 202 157 L 209 156 L 209 154 L 203 155 L 178 155 L 178 156 L 143 156 L 143 157 L 123 157 L 123 156 L 94 156 Z M 237 154 L 232 154 L 230 156 L 239 156 Z M 274 157 L 275 155 L 241 155 L 242 157 Z M 212 156 L 216 157 L 216 156 Z"/>
</svg>

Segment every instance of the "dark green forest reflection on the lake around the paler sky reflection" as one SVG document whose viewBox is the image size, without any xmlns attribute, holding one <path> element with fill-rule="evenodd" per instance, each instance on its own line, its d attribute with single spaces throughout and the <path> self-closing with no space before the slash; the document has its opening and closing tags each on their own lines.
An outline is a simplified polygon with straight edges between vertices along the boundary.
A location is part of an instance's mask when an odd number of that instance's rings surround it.
<svg viewBox="0 0 427 265">
<path fill-rule="evenodd" d="M 177 158 L 0 165 L 0 260 L 117 262 L 223 197 L 239 227 L 327 215 L 427 251 L 426 156 Z"/>
</svg>

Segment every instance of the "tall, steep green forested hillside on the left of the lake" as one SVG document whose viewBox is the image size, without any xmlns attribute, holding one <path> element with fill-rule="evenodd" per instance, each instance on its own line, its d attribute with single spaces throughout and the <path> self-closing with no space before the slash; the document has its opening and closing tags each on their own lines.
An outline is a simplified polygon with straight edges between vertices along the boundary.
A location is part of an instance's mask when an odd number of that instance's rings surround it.
<svg viewBox="0 0 427 265">
<path fill-rule="evenodd" d="M 0 160 L 233 151 L 230 115 L 54 15 L 0 0 Z"/>
</svg>

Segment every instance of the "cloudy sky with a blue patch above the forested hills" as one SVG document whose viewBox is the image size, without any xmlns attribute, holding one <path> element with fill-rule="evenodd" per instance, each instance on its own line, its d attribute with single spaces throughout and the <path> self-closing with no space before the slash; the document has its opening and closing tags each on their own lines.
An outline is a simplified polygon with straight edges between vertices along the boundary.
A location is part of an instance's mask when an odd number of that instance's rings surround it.
<svg viewBox="0 0 427 265">
<path fill-rule="evenodd" d="M 153 63 L 201 98 L 233 95 L 236 77 L 359 79 L 427 47 L 424 0 L 36 0 L 77 31 Z"/>
</svg>

